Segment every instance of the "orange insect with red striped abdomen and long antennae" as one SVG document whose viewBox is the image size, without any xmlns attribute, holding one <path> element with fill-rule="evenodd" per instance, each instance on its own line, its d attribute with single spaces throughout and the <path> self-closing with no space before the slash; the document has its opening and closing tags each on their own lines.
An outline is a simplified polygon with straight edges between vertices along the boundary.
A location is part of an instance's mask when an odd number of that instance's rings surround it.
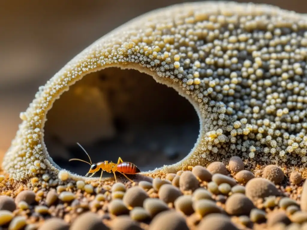
<svg viewBox="0 0 307 230">
<path fill-rule="evenodd" d="M 128 178 L 125 174 L 137 174 L 137 173 L 141 172 L 134 163 L 124 162 L 124 161 L 122 161 L 122 159 L 120 157 L 118 158 L 117 164 L 113 163 L 112 161 L 109 163 L 107 160 L 100 161 L 96 164 L 95 163 L 93 164 L 92 161 L 91 161 L 90 155 L 88 155 L 88 153 L 85 151 L 85 149 L 79 143 L 77 143 L 77 144 L 86 153 L 86 155 L 90 159 L 90 163 L 85 161 L 85 160 L 81 160 L 81 159 L 77 159 L 77 158 L 72 158 L 72 159 L 69 159 L 68 161 L 79 160 L 79 161 L 88 163 L 91 166 L 91 168 L 85 176 L 87 176 L 88 174 L 91 173 L 90 177 L 92 177 L 96 172 L 98 172 L 101 169 L 101 175 L 100 175 L 99 182 L 101 181 L 103 171 L 106 171 L 108 173 L 113 172 L 114 177 L 115 177 L 115 182 L 117 182 L 115 172 L 119 172 L 119 173 L 123 174 L 128 180 L 133 182 L 133 180 Z"/>
</svg>

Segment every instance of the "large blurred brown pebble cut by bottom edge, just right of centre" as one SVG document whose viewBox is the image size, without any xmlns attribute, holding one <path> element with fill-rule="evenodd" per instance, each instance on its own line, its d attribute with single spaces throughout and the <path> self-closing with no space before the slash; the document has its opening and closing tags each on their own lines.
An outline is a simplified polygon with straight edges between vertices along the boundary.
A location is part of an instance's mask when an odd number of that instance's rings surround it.
<svg viewBox="0 0 307 230">
<path fill-rule="evenodd" d="M 149 230 L 188 230 L 185 218 L 175 211 L 158 214 L 150 223 Z"/>
</svg>

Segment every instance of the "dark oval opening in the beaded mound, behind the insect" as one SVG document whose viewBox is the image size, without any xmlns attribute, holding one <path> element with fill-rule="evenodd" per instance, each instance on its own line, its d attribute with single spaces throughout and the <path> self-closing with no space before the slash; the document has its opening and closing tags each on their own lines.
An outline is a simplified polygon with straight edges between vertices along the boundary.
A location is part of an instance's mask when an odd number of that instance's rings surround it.
<svg viewBox="0 0 307 230">
<path fill-rule="evenodd" d="M 79 175 L 85 175 L 89 165 L 68 160 L 89 159 L 76 142 L 93 163 L 117 163 L 121 157 L 149 171 L 188 155 L 200 130 L 193 105 L 176 90 L 145 73 L 116 67 L 88 74 L 70 86 L 46 118 L 44 141 L 50 157 Z"/>
</svg>

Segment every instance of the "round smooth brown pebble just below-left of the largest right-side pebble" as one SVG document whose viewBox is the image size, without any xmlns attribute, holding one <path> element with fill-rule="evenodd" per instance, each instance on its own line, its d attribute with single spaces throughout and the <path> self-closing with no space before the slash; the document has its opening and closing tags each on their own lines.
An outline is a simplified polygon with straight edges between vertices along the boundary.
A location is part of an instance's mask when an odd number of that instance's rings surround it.
<svg viewBox="0 0 307 230">
<path fill-rule="evenodd" d="M 225 203 L 225 211 L 230 215 L 249 215 L 253 208 L 253 202 L 241 193 L 232 194 Z"/>
</svg>

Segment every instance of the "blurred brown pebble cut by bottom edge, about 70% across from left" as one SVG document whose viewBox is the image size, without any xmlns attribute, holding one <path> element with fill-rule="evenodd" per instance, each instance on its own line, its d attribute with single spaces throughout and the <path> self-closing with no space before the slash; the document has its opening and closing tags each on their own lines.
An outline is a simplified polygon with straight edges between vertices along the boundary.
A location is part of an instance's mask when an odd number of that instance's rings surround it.
<svg viewBox="0 0 307 230">
<path fill-rule="evenodd" d="M 203 218 L 197 226 L 197 230 L 239 230 L 229 217 L 213 213 Z"/>
</svg>

